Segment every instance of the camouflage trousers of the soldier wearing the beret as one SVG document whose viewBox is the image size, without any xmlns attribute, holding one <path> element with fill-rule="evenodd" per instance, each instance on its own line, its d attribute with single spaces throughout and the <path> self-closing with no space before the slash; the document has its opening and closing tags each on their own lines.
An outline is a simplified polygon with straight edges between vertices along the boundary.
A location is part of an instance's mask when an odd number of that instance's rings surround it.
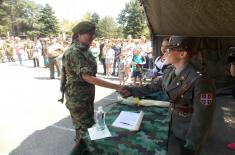
<svg viewBox="0 0 235 155">
<path fill-rule="evenodd" d="M 90 128 L 94 123 L 94 103 L 92 97 L 80 103 L 75 101 L 66 101 L 73 126 L 76 129 L 76 141 L 86 135 L 87 128 Z"/>
</svg>

